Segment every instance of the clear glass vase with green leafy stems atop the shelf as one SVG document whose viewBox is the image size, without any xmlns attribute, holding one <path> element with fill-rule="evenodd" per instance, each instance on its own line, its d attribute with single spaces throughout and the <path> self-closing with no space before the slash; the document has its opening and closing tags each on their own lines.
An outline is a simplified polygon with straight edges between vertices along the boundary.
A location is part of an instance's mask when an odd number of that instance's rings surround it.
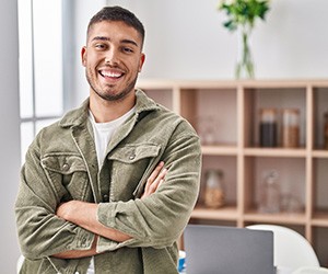
<svg viewBox="0 0 328 274">
<path fill-rule="evenodd" d="M 236 64 L 235 77 L 254 78 L 254 62 L 249 47 L 249 36 L 257 18 L 265 20 L 269 11 L 269 0 L 221 0 L 219 10 L 225 11 L 223 23 L 229 31 L 238 31 L 242 37 L 241 56 Z"/>
</svg>

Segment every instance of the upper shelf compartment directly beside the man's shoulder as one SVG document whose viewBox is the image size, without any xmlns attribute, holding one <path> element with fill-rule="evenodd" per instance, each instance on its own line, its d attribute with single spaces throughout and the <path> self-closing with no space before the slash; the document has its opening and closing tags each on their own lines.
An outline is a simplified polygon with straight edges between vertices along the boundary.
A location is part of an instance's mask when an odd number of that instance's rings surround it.
<svg viewBox="0 0 328 274">
<path fill-rule="evenodd" d="M 236 146 L 237 92 L 235 89 L 181 89 L 180 92 L 181 115 L 195 126 L 202 145 Z"/>
</svg>

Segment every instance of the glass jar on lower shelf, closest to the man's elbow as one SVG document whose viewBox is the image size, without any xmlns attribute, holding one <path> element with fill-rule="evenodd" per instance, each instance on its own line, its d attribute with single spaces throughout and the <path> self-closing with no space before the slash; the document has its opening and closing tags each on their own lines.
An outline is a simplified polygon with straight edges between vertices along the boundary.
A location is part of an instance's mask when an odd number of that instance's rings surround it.
<svg viewBox="0 0 328 274">
<path fill-rule="evenodd" d="M 203 203 L 210 208 L 220 208 L 224 205 L 224 183 L 221 170 L 206 172 Z"/>
</svg>

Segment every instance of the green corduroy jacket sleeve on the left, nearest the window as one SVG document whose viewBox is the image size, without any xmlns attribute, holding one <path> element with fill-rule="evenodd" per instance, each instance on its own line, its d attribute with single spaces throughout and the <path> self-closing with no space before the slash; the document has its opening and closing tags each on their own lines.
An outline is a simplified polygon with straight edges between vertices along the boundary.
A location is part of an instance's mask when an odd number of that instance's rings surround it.
<svg viewBox="0 0 328 274">
<path fill-rule="evenodd" d="M 37 139 L 31 145 L 21 170 L 15 202 L 19 242 L 23 255 L 31 260 L 67 250 L 86 250 L 94 235 L 56 216 L 60 203 L 39 157 Z"/>
</svg>

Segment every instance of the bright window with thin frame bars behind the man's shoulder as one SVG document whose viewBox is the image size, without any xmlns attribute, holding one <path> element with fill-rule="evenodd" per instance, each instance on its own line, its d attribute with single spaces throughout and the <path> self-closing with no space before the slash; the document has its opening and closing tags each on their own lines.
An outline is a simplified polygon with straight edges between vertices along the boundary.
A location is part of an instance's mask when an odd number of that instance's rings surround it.
<svg viewBox="0 0 328 274">
<path fill-rule="evenodd" d="M 22 159 L 63 113 L 62 1 L 19 0 Z"/>
</svg>

